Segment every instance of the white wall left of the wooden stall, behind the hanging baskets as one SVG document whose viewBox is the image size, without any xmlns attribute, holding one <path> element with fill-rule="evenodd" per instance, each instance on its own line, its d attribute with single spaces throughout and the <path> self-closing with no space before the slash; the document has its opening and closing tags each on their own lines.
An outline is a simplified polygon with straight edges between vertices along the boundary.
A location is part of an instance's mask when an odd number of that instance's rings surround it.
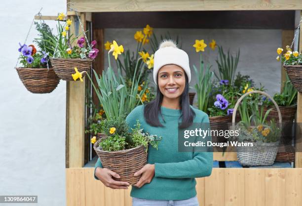
<svg viewBox="0 0 302 206">
<path fill-rule="evenodd" d="M 66 0 L 1 1 L 0 195 L 38 195 L 39 206 L 64 206 L 66 82 L 33 94 L 14 69 L 18 42 L 41 7 L 43 15 L 56 15 L 66 12 Z M 28 44 L 36 34 L 34 27 Z"/>
</svg>

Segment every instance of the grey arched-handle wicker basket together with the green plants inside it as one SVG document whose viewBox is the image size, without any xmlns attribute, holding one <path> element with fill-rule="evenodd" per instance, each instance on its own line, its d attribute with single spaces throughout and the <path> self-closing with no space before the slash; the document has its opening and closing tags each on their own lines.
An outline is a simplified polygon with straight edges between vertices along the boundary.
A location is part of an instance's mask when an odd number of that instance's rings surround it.
<svg viewBox="0 0 302 206">
<path fill-rule="evenodd" d="M 280 125 L 276 124 L 274 120 L 271 120 L 270 124 L 267 124 L 266 118 L 271 109 L 267 110 L 264 114 L 264 106 L 261 105 L 261 108 L 259 108 L 257 98 L 254 101 L 245 98 L 252 93 L 262 94 L 271 98 L 263 91 L 254 90 L 245 93 L 238 99 L 232 116 L 232 123 L 234 124 L 236 111 L 242 101 L 239 107 L 241 121 L 236 125 L 236 129 L 239 130 L 239 136 L 236 140 L 252 144 L 236 147 L 237 159 L 241 165 L 246 166 L 272 165 L 279 146 Z M 272 102 L 278 111 L 279 123 L 281 123 L 282 118 L 278 105 L 274 100 Z"/>
</svg>

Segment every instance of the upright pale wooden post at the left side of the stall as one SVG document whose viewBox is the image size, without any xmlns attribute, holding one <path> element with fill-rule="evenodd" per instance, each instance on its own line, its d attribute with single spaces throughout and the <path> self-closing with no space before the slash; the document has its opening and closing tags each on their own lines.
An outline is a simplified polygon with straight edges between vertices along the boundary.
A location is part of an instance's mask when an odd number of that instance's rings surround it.
<svg viewBox="0 0 302 206">
<path fill-rule="evenodd" d="M 79 15 L 83 26 L 86 27 L 85 14 Z M 76 16 L 69 18 L 76 22 Z M 71 26 L 70 32 L 75 34 L 75 24 Z M 83 81 L 66 82 L 66 167 L 84 165 L 85 78 Z"/>
</svg>

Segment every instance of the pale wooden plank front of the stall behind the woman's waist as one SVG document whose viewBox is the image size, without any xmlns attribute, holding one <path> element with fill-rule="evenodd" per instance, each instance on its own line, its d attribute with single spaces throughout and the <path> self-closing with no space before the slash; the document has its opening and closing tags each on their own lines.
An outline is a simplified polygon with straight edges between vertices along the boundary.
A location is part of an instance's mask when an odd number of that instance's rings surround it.
<svg viewBox="0 0 302 206">
<path fill-rule="evenodd" d="M 94 168 L 66 168 L 67 206 L 132 206 L 128 190 L 95 180 Z M 200 206 L 301 206 L 302 168 L 213 168 L 196 178 Z"/>
</svg>

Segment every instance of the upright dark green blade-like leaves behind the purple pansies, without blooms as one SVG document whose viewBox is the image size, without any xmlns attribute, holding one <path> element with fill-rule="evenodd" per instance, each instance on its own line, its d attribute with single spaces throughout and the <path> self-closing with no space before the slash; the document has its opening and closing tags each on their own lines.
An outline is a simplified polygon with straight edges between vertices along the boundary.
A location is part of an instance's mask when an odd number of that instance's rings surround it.
<svg viewBox="0 0 302 206">
<path fill-rule="evenodd" d="M 217 59 L 216 62 L 218 65 L 219 77 L 216 73 L 215 76 L 218 80 L 228 80 L 230 85 L 233 85 L 233 81 L 239 61 L 240 49 L 238 49 L 236 56 L 233 57 L 232 55 L 229 54 L 229 50 L 227 51 L 227 55 L 226 55 L 223 50 L 223 47 L 218 46 L 218 54 L 219 54 L 219 59 Z"/>
</svg>

